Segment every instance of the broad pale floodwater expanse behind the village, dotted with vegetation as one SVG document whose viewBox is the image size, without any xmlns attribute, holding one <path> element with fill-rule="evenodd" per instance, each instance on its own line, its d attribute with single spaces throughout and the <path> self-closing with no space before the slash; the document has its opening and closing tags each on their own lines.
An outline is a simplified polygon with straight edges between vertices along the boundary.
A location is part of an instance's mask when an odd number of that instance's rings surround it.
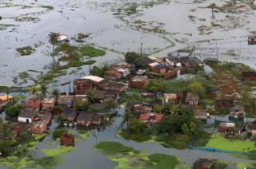
<svg viewBox="0 0 256 169">
<path fill-rule="evenodd" d="M 212 18 L 210 1 L 2 1 L 0 5 L 0 80 L 12 86 L 13 78 L 27 70 L 46 71 L 52 62 L 50 32 L 90 33 L 83 44 L 106 50 L 104 61 L 122 61 L 123 53 L 140 51 L 166 56 L 176 49 L 194 46 L 194 56 L 243 62 L 255 67 L 254 46 L 247 36 L 255 28 L 250 1 L 229 6 L 217 1 Z M 164 12 L 163 12 L 164 11 Z M 77 44 L 71 41 L 71 44 Z M 29 56 L 17 48 L 33 46 Z M 71 72 L 69 69 L 68 72 Z M 82 73 L 88 72 L 88 65 Z M 30 72 L 30 74 L 33 74 Z M 59 81 L 76 76 L 59 77 Z M 33 85 L 32 82 L 24 86 Z"/>
</svg>

